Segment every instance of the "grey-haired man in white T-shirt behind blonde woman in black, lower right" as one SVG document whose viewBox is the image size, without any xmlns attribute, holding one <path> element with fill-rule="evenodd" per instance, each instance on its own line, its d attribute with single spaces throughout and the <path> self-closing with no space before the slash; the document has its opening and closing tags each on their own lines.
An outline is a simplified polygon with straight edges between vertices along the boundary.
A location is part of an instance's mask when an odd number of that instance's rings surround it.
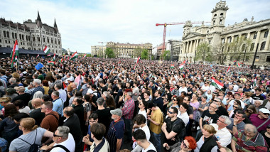
<svg viewBox="0 0 270 152">
<path fill-rule="evenodd" d="M 229 130 L 226 128 L 226 126 L 231 123 L 232 121 L 228 116 L 222 115 L 217 119 L 217 124 L 210 124 L 211 126 L 214 126 L 215 131 L 217 131 L 215 137 L 217 138 L 217 143 L 220 146 L 226 147 L 229 145 L 229 143 L 231 143 L 232 136 Z"/>
</svg>

